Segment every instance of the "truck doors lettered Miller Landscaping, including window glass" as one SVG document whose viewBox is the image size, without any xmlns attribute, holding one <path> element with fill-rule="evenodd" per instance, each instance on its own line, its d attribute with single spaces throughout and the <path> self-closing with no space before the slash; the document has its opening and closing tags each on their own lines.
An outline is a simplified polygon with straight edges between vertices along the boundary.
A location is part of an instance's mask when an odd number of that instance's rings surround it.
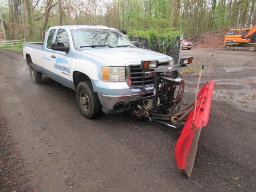
<svg viewBox="0 0 256 192">
<path fill-rule="evenodd" d="M 50 35 L 50 34 L 49 34 Z M 49 40 L 50 36 L 48 36 Z M 47 40 L 47 46 L 48 46 Z M 49 44 L 51 44 L 49 40 Z M 64 29 L 59 29 L 54 42 L 62 42 L 65 47 L 69 47 L 68 33 Z M 46 60 L 44 59 L 46 58 Z M 50 61 L 48 61 L 50 59 Z M 72 88 L 70 68 L 71 68 L 71 57 L 69 53 L 46 50 L 43 51 L 43 64 L 46 71 L 46 75 L 60 84 Z"/>
</svg>

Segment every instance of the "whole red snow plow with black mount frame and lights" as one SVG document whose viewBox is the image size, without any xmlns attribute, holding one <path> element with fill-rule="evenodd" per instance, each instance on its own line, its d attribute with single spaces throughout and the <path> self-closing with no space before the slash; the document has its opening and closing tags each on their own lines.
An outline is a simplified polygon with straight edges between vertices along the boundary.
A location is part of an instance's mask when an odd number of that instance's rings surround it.
<svg viewBox="0 0 256 192">
<path fill-rule="evenodd" d="M 188 177 L 192 173 L 201 129 L 208 124 L 214 89 L 214 80 L 207 80 L 199 93 L 197 88 L 196 99 L 183 106 L 181 110 L 185 82 L 178 70 L 192 63 L 192 59 L 192 57 L 182 58 L 180 64 L 173 66 L 152 65 L 156 66 L 155 68 L 148 67 L 151 61 L 142 61 L 141 68 L 144 72 L 154 74 L 153 98 L 143 100 L 142 104 L 138 104 L 133 110 L 133 114 L 137 117 L 146 117 L 150 121 L 174 128 L 180 133 L 175 148 L 176 162 L 178 168 Z M 138 88 L 147 92 L 143 87 Z M 176 96 L 174 96 L 175 90 Z"/>
</svg>

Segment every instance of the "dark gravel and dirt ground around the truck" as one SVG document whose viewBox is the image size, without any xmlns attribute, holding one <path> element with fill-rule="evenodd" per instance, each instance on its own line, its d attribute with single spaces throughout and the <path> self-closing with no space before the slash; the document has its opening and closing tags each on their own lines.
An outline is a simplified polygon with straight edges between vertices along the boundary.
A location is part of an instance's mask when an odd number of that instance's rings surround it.
<svg viewBox="0 0 256 192">
<path fill-rule="evenodd" d="M 256 53 L 183 50 L 216 80 L 191 178 L 178 170 L 178 134 L 130 114 L 85 119 L 76 94 L 30 80 L 22 54 L 0 50 L 0 191 L 256 191 Z M 184 74 L 185 102 L 198 73 Z"/>
</svg>

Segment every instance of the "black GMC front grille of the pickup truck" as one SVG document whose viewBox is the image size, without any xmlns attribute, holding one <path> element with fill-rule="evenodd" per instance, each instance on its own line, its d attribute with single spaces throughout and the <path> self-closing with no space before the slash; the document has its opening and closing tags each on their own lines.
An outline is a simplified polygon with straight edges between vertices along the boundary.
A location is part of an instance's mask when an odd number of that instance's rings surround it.
<svg viewBox="0 0 256 192">
<path fill-rule="evenodd" d="M 166 63 L 159 63 L 158 66 L 168 65 Z M 130 76 L 132 86 L 147 86 L 152 85 L 154 82 L 154 77 L 145 78 L 145 72 L 139 66 L 130 66 Z"/>
</svg>

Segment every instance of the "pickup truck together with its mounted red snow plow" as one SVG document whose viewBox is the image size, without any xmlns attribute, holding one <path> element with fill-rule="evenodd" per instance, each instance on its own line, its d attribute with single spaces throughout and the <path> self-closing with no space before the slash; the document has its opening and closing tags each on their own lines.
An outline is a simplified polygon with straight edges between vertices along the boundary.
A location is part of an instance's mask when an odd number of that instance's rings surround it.
<svg viewBox="0 0 256 192">
<path fill-rule="evenodd" d="M 86 118 L 131 110 L 174 128 L 180 134 L 176 162 L 190 177 L 201 129 L 208 124 L 214 80 L 207 79 L 198 92 L 202 66 L 196 98 L 182 107 L 185 82 L 178 71 L 193 57 L 174 65 L 171 57 L 134 44 L 113 28 L 58 26 L 48 30 L 43 44 L 24 43 L 23 54 L 32 81 L 40 83 L 44 74 L 75 90 Z"/>
</svg>

